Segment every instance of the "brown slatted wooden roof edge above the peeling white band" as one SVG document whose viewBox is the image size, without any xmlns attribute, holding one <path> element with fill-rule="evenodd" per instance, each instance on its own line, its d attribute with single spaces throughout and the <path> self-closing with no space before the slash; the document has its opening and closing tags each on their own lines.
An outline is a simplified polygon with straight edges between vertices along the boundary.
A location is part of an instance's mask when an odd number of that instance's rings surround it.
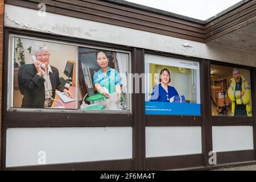
<svg viewBox="0 0 256 182">
<path fill-rule="evenodd" d="M 113 24 L 115 26 L 202 43 L 219 38 L 256 21 L 256 0 L 244 3 L 207 24 L 123 6 L 110 1 L 6 0 L 5 3 L 36 10 L 38 10 L 38 3 L 46 3 L 46 10 L 49 13 Z"/>
</svg>

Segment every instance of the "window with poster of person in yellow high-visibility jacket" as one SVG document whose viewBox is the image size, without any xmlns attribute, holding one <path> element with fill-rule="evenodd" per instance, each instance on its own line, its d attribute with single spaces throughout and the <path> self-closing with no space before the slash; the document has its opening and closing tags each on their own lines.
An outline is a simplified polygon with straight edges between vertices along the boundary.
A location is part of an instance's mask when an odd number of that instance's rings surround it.
<svg viewBox="0 0 256 182">
<path fill-rule="evenodd" d="M 250 70 L 210 65 L 213 116 L 252 116 Z"/>
</svg>

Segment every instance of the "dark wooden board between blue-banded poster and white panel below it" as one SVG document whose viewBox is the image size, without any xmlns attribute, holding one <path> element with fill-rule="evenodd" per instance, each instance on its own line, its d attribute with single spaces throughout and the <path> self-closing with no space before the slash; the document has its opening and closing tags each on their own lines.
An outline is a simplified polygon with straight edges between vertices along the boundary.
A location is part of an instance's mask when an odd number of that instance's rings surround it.
<svg viewBox="0 0 256 182">
<path fill-rule="evenodd" d="M 146 126 L 202 126 L 199 115 L 146 115 Z"/>
</svg>

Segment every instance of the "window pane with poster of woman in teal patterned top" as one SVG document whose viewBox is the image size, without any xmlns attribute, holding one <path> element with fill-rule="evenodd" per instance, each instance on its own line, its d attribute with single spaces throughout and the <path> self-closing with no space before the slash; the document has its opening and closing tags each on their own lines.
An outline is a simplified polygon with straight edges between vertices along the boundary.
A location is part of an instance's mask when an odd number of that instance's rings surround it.
<svg viewBox="0 0 256 182">
<path fill-rule="evenodd" d="M 79 109 L 127 111 L 129 53 L 79 47 Z"/>
</svg>

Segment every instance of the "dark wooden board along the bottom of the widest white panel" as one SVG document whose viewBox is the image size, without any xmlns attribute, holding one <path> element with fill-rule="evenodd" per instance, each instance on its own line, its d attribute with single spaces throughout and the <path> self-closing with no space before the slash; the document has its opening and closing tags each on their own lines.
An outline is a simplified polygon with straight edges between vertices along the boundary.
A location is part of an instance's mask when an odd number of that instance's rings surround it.
<svg viewBox="0 0 256 182">
<path fill-rule="evenodd" d="M 7 167 L 6 171 L 130 171 L 132 159 L 106 160 L 96 162 L 46 164 L 36 166 Z"/>
</svg>

